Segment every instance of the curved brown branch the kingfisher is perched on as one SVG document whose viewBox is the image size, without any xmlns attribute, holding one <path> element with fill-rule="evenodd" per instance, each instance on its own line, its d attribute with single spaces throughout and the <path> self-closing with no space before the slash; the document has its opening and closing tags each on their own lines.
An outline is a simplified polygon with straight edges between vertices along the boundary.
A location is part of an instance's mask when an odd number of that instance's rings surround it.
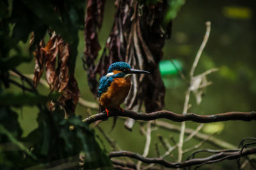
<svg viewBox="0 0 256 170">
<path fill-rule="evenodd" d="M 243 120 L 243 121 L 252 121 L 256 120 L 256 112 L 238 112 L 231 111 L 227 113 L 217 113 L 214 115 L 196 115 L 195 113 L 184 113 L 177 114 L 172 111 L 155 111 L 152 113 L 137 113 L 131 110 L 121 111 L 111 111 L 109 117 L 129 117 L 136 120 L 156 120 L 158 118 L 166 118 L 168 120 L 172 120 L 173 122 L 184 122 L 184 121 L 192 121 L 197 123 L 211 123 L 211 122 L 222 122 L 227 120 Z M 85 118 L 83 121 L 91 124 L 97 120 L 106 120 L 108 116 L 106 113 L 97 113 L 88 118 Z"/>
</svg>

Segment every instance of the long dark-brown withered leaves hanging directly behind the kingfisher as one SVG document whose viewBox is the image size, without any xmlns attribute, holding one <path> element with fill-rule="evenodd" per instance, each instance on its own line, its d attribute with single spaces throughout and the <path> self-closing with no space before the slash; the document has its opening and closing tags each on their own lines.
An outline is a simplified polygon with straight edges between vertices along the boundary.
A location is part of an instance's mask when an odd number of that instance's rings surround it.
<svg viewBox="0 0 256 170">
<path fill-rule="evenodd" d="M 92 19 L 92 1 L 88 1 L 86 22 Z M 94 25 L 85 28 L 86 64 L 88 66 L 88 83 L 97 95 L 96 74 L 106 74 L 111 63 L 125 61 L 136 69 L 150 71 L 150 75 L 133 75 L 132 87 L 125 104 L 129 110 L 138 111 L 145 101 L 146 111 L 161 110 L 164 106 L 165 88 L 161 80 L 158 64 L 163 58 L 162 48 L 166 37 L 161 24 L 164 19 L 166 1 L 158 1 L 147 6 L 140 6 L 138 1 L 115 1 L 116 13 L 111 33 L 106 43 L 108 55 L 103 53 L 95 67 L 98 40 L 90 32 Z M 98 8 L 99 10 L 99 8 Z M 96 10 L 95 10 L 96 11 Z M 91 15 L 89 15 L 91 14 Z M 87 25 L 88 26 L 88 25 Z M 170 32 L 168 32 L 170 34 Z M 90 39 L 91 38 L 91 39 Z M 90 53 L 88 53 L 90 52 Z M 95 52 L 95 53 L 93 53 Z M 93 54 L 92 54 L 93 53 Z M 93 56 L 93 57 L 92 57 Z"/>
</svg>

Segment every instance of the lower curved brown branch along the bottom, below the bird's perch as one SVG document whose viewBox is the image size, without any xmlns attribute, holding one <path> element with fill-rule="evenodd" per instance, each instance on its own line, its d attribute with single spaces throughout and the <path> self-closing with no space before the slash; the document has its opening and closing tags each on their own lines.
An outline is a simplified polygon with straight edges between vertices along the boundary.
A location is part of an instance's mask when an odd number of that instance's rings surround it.
<svg viewBox="0 0 256 170">
<path fill-rule="evenodd" d="M 147 158 L 143 157 L 142 155 L 134 152 L 129 151 L 119 151 L 119 152 L 111 152 L 109 153 L 109 157 L 131 157 L 133 159 L 138 159 L 141 162 L 144 162 L 146 164 L 161 164 L 165 167 L 189 167 L 194 165 L 201 165 L 201 164 L 210 164 L 212 162 L 220 162 L 221 160 L 225 159 L 237 159 L 239 157 L 244 157 L 246 155 L 251 155 L 253 153 L 256 153 L 256 147 L 248 148 L 246 150 L 243 150 L 241 153 L 240 150 L 234 151 L 234 152 L 220 152 L 216 153 L 214 155 L 211 155 L 209 157 L 205 158 L 198 158 L 198 159 L 189 159 L 184 162 L 168 162 L 161 158 Z"/>
</svg>

